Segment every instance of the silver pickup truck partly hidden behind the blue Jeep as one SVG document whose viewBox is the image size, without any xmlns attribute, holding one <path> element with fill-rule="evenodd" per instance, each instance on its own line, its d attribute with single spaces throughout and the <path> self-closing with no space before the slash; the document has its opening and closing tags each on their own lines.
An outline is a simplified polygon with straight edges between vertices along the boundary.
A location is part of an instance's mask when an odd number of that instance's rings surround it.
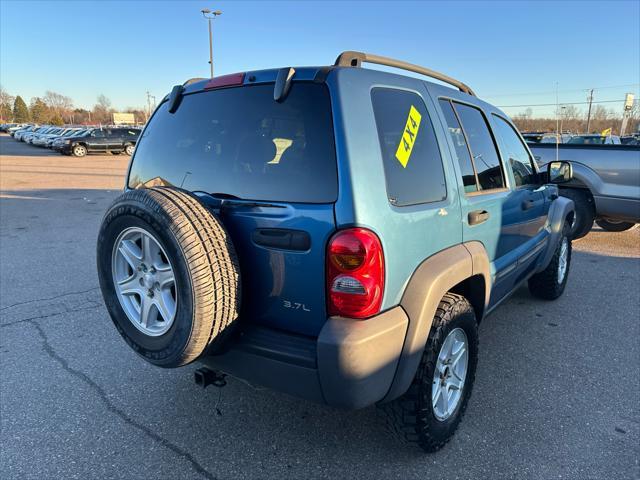
<svg viewBox="0 0 640 480">
<path fill-rule="evenodd" d="M 640 146 L 528 145 L 541 168 L 556 159 L 573 166 L 573 180 L 560 194 L 575 203 L 574 239 L 589 233 L 594 220 L 611 232 L 640 223 Z"/>
</svg>

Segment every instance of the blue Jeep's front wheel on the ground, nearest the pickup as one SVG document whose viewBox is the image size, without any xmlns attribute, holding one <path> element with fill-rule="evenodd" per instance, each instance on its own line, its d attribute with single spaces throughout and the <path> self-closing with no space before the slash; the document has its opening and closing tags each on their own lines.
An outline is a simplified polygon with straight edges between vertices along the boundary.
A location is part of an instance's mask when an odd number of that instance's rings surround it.
<svg viewBox="0 0 640 480">
<path fill-rule="evenodd" d="M 570 230 L 569 223 L 565 223 L 551 262 L 542 272 L 529 279 L 529 291 L 533 296 L 543 300 L 555 300 L 564 292 L 571 266 Z"/>
</svg>

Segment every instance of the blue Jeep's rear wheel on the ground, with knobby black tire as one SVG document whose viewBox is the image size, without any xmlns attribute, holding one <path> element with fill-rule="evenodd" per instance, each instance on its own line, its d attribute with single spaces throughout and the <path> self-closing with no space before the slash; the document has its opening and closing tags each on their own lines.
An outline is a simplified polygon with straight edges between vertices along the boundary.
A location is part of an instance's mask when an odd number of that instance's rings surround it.
<svg viewBox="0 0 640 480">
<path fill-rule="evenodd" d="M 390 429 L 425 452 L 441 449 L 467 407 L 478 363 L 478 322 L 469 301 L 447 293 L 433 319 L 409 390 L 381 405 Z"/>
</svg>

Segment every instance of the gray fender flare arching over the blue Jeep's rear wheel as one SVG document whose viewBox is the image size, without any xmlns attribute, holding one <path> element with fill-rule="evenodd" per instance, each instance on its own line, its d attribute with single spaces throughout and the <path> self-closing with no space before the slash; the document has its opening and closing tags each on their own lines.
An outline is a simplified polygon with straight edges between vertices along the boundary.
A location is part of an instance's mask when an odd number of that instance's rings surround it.
<svg viewBox="0 0 640 480">
<path fill-rule="evenodd" d="M 442 297 L 465 280 L 475 278 L 484 291 L 474 305 L 479 317 L 486 310 L 491 293 L 489 258 L 480 242 L 468 242 L 447 248 L 423 261 L 413 273 L 404 291 L 401 307 L 409 317 L 409 326 L 395 377 L 382 402 L 398 398 L 407 391 L 416 374 Z M 473 302 L 472 302 L 473 303 Z M 480 318 L 478 318 L 480 321 Z"/>
</svg>

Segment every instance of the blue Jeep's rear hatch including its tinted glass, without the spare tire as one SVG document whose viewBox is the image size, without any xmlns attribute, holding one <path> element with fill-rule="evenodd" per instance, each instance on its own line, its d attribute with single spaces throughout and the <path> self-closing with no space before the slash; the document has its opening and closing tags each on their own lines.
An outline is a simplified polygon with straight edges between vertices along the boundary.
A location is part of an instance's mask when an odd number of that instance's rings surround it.
<svg viewBox="0 0 640 480">
<path fill-rule="evenodd" d="M 129 188 L 182 187 L 219 212 L 238 252 L 242 320 L 303 335 L 326 321 L 325 245 L 338 178 L 329 91 L 293 82 L 185 94 L 144 130 Z"/>
</svg>

